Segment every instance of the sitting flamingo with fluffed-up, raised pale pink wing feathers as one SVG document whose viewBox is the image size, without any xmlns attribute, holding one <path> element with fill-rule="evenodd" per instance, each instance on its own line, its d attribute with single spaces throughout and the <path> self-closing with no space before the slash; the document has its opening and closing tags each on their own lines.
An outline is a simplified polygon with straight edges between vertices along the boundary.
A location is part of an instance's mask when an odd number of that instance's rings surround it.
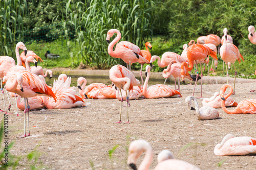
<svg viewBox="0 0 256 170">
<path fill-rule="evenodd" d="M 73 107 L 82 107 L 84 104 L 83 100 L 76 95 L 74 86 L 70 87 L 71 77 L 67 80 L 53 81 L 52 91 L 58 98 L 54 101 L 53 98 L 48 96 L 42 97 L 42 101 L 47 109 L 69 109 Z"/>
</svg>

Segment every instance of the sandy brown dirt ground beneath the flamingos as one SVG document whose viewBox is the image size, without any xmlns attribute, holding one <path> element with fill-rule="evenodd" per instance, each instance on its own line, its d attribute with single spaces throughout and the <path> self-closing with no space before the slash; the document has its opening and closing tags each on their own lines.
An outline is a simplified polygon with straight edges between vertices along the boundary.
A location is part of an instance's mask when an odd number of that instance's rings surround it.
<svg viewBox="0 0 256 170">
<path fill-rule="evenodd" d="M 203 97 L 209 98 L 222 85 L 203 85 Z M 255 169 L 255 156 L 216 156 L 214 147 L 228 133 L 256 138 L 256 114 L 228 115 L 219 108 L 218 119 L 198 120 L 196 112 L 189 110 L 185 103 L 193 87 L 182 85 L 182 98 L 131 101 L 131 124 L 114 124 L 119 120 L 120 101 L 117 99 L 88 99 L 85 100 L 90 103 L 88 107 L 31 111 L 31 136 L 19 139 L 16 137 L 23 135 L 24 117 L 11 114 L 8 117 L 9 139 L 15 140 L 11 153 L 26 155 L 37 146 L 40 164 L 49 169 L 130 169 L 126 164 L 127 147 L 133 140 L 145 139 L 154 152 L 150 169 L 156 166 L 157 154 L 163 149 L 172 151 L 176 159 L 201 169 Z M 231 97 L 238 103 L 255 99 L 256 92 L 249 92 L 252 89 L 256 90 L 255 81 L 237 83 L 236 95 Z M 76 90 L 78 94 L 77 87 Z M 197 85 L 195 96 L 199 95 Z M 202 107 L 202 99 L 198 102 Z M 11 112 L 15 112 L 14 106 Z M 126 120 L 126 107 L 122 110 L 122 120 Z M 119 147 L 110 157 L 109 150 L 117 144 Z M 138 165 L 143 156 L 137 161 Z M 27 167 L 24 162 L 19 163 L 17 169 Z"/>
</svg>

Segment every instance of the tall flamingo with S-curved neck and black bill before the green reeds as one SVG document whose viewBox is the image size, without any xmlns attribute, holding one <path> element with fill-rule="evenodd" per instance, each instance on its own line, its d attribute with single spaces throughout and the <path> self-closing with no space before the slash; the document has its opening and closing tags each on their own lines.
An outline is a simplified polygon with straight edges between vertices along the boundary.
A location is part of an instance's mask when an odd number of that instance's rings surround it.
<svg viewBox="0 0 256 170">
<path fill-rule="evenodd" d="M 116 38 L 112 42 L 110 42 L 110 38 L 115 33 L 117 34 Z M 121 58 L 127 64 L 127 68 L 129 64 L 130 66 L 129 70 L 131 70 L 132 63 L 135 63 L 135 62 L 148 63 L 147 59 L 143 58 L 140 48 L 137 45 L 128 41 L 120 41 L 119 43 L 117 43 L 120 39 L 121 39 L 121 33 L 116 29 L 111 29 L 106 34 L 106 42 L 109 43 L 108 53 L 111 57 Z M 113 51 L 113 47 L 115 44 L 116 44 L 116 48 L 115 48 L 115 51 Z"/>
</svg>

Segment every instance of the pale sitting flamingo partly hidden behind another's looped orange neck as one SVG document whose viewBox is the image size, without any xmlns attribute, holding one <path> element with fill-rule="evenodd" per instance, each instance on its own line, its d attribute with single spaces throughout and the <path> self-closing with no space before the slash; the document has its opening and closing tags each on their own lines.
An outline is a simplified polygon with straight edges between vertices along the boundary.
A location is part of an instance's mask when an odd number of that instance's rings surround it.
<svg viewBox="0 0 256 170">
<path fill-rule="evenodd" d="M 211 96 L 210 99 L 208 98 L 204 98 L 203 99 L 203 106 L 211 106 L 213 108 L 221 108 L 221 96 L 220 96 L 220 92 L 216 91 L 214 93 L 214 96 Z M 232 98 L 227 98 L 227 100 L 225 101 L 225 106 L 226 107 L 236 107 L 238 105 L 237 102 L 235 102 Z"/>
</svg>

